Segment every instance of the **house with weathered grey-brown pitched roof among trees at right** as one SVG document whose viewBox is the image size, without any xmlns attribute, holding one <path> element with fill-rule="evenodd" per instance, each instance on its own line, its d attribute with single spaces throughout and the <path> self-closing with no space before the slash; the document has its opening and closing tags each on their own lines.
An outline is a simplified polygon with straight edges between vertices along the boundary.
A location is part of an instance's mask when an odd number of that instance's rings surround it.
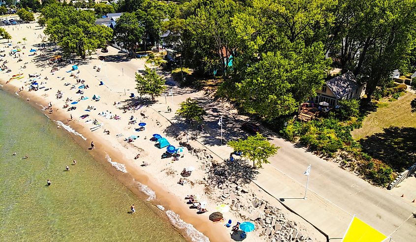
<svg viewBox="0 0 416 242">
<path fill-rule="evenodd" d="M 338 100 L 361 98 L 365 94 L 365 87 L 366 83 L 358 83 L 354 74 L 348 72 L 326 81 L 322 88 L 316 91 L 317 95 L 311 101 L 316 104 L 326 102 L 329 106 L 336 106 Z"/>
</svg>

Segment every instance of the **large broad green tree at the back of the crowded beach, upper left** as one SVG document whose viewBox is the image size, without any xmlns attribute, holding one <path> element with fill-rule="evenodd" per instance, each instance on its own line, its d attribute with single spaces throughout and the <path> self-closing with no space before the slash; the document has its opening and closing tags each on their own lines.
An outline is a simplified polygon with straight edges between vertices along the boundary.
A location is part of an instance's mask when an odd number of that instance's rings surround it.
<svg viewBox="0 0 416 242">
<path fill-rule="evenodd" d="M 92 12 L 55 4 L 46 7 L 53 6 L 57 6 L 58 9 L 43 14 L 46 19 L 44 32 L 50 41 L 62 47 L 64 53 L 75 53 L 85 58 L 86 54 L 105 47 L 107 41 L 112 39 L 112 29 L 95 25 L 96 18 Z"/>
</svg>

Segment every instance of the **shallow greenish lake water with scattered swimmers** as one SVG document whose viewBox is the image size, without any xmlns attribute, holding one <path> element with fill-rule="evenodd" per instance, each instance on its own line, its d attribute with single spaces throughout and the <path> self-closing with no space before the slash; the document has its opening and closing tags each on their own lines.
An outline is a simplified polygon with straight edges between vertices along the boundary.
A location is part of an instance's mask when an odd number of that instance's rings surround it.
<svg viewBox="0 0 416 242">
<path fill-rule="evenodd" d="M 151 206 L 63 129 L 0 90 L 0 241 L 185 242 Z"/>
</svg>

